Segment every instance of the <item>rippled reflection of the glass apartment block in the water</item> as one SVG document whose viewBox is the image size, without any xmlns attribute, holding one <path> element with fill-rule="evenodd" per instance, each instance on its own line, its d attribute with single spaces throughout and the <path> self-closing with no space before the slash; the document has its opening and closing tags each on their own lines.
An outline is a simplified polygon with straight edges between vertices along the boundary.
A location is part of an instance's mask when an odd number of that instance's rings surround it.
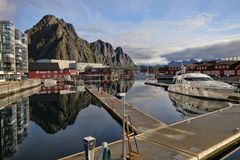
<svg viewBox="0 0 240 160">
<path fill-rule="evenodd" d="M 29 134 L 29 99 L 23 98 L 0 111 L 1 159 L 12 157 Z"/>
</svg>

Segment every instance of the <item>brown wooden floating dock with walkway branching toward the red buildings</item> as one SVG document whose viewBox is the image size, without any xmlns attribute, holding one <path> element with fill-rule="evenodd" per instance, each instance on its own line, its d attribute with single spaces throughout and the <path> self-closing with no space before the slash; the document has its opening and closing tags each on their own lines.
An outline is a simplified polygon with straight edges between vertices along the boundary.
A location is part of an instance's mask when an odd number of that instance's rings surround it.
<svg viewBox="0 0 240 160">
<path fill-rule="evenodd" d="M 86 87 L 86 89 L 98 98 L 110 113 L 121 118 L 120 100 L 105 92 L 100 95 L 97 88 L 92 86 Z M 116 100 L 117 103 L 115 104 L 115 101 L 112 103 L 111 99 Z M 240 141 L 239 105 L 233 105 L 169 126 L 131 105 L 126 105 L 126 108 L 127 114 L 134 120 L 135 129 L 140 133 L 137 136 L 137 142 L 141 154 L 137 160 L 206 159 L 225 147 Z M 121 141 L 113 142 L 109 147 L 113 159 L 121 159 Z M 96 148 L 95 151 L 96 159 L 102 156 L 101 147 Z M 77 153 L 62 159 L 84 159 L 84 153 Z"/>
</svg>

